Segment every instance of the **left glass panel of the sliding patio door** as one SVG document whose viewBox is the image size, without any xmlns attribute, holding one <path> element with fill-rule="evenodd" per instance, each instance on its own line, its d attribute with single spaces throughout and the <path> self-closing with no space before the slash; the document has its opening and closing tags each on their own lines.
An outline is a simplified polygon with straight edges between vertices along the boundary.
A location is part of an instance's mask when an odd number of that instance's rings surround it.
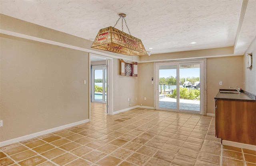
<svg viewBox="0 0 256 166">
<path fill-rule="evenodd" d="M 158 108 L 177 110 L 177 65 L 159 66 L 158 71 Z"/>
</svg>

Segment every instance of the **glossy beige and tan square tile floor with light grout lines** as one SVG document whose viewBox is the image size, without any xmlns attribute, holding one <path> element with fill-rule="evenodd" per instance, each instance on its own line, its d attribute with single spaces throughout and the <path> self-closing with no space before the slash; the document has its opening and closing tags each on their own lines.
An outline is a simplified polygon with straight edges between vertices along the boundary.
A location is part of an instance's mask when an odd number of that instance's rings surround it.
<svg viewBox="0 0 256 166">
<path fill-rule="evenodd" d="M 136 108 L 0 148 L 0 166 L 256 166 L 256 151 L 222 146 L 214 118 Z"/>
</svg>

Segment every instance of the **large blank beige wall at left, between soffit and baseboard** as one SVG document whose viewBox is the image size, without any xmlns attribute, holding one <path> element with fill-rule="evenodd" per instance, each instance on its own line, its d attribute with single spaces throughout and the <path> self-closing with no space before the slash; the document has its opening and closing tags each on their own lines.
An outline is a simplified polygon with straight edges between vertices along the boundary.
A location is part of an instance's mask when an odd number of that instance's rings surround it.
<svg viewBox="0 0 256 166">
<path fill-rule="evenodd" d="M 87 52 L 1 35 L 0 140 L 88 119 Z"/>
</svg>

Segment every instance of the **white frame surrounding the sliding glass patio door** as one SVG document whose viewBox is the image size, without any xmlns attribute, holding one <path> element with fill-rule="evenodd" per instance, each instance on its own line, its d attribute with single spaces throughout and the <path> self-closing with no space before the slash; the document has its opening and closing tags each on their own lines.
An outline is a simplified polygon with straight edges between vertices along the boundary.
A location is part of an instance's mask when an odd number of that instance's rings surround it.
<svg viewBox="0 0 256 166">
<path fill-rule="evenodd" d="M 202 78 L 202 86 L 201 86 L 201 93 L 200 93 L 200 114 L 206 115 L 206 109 L 207 109 L 207 91 L 206 91 L 206 58 L 200 58 L 200 59 L 191 59 L 191 60 L 172 60 L 172 61 L 163 61 L 163 62 L 154 62 L 154 78 L 159 78 L 159 73 L 156 71 L 157 67 L 161 64 L 183 64 L 183 63 L 194 63 L 194 62 L 200 62 L 202 63 L 202 69 L 200 69 L 200 78 Z M 201 65 L 201 64 L 200 64 Z M 176 69 L 177 74 L 176 76 L 179 78 L 179 68 Z M 154 109 L 157 109 L 157 102 L 159 102 L 159 83 L 156 82 L 158 79 L 154 79 Z M 201 84 L 201 82 L 200 82 Z M 179 85 L 177 85 L 179 86 Z M 158 97 L 157 97 L 158 95 Z M 177 98 L 179 98 L 179 94 L 177 94 Z M 178 106 L 178 102 L 177 102 Z M 162 109 L 162 108 L 161 108 Z M 170 109 L 169 109 L 170 110 Z M 180 112 L 180 110 L 174 110 Z M 194 113 L 194 112 L 193 112 Z"/>
</svg>

